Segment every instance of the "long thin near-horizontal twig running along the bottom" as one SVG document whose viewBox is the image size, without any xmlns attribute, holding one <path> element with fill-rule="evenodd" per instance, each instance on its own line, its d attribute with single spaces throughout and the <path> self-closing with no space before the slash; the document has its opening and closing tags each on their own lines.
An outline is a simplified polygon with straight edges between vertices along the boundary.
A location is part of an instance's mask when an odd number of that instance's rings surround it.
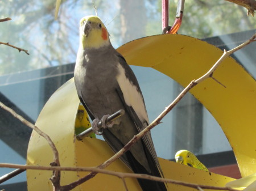
<svg viewBox="0 0 256 191">
<path fill-rule="evenodd" d="M 0 167 L 5 168 L 20 168 L 20 169 L 34 169 L 34 170 L 43 170 L 43 171 L 83 171 L 83 172 L 97 172 L 102 173 L 105 175 L 116 176 L 121 179 L 125 179 L 127 177 L 134 178 L 134 179 L 146 179 L 146 180 L 153 180 L 159 182 L 166 182 L 170 184 L 177 184 L 182 186 L 187 186 L 191 188 L 198 189 L 214 189 L 214 190 L 229 190 L 229 191 L 238 191 L 237 189 L 233 189 L 230 187 L 223 187 L 223 186 L 210 186 L 210 185 L 200 185 L 200 184 L 193 184 L 189 182 L 177 181 L 172 179 L 165 179 L 162 177 L 157 176 L 150 176 L 144 174 L 137 174 L 137 173 L 126 173 L 126 172 L 114 172 L 105 169 L 101 169 L 98 167 L 40 167 L 37 165 L 19 165 L 19 164 L 7 164 L 7 163 L 0 163 Z M 60 189 L 62 190 L 62 189 Z"/>
</svg>

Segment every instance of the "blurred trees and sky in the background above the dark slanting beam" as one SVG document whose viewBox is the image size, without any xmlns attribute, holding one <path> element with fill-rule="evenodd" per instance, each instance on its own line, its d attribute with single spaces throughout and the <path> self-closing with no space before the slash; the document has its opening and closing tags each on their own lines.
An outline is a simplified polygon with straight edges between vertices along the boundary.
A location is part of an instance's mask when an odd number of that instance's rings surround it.
<svg viewBox="0 0 256 191">
<path fill-rule="evenodd" d="M 144 36 L 162 33 L 162 1 L 94 0 L 98 16 L 105 22 L 115 48 Z M 94 15 L 92 1 L 63 0 L 54 20 L 55 0 L 0 1 L 0 41 L 27 49 L 30 56 L 1 45 L 0 75 L 76 61 L 79 46 L 79 20 Z M 170 0 L 170 25 L 177 1 Z M 135 9 L 137 7 L 137 9 Z M 140 9 L 138 9 L 138 7 Z M 256 28 L 256 20 L 246 9 L 224 0 L 185 1 L 180 34 L 199 39 Z"/>
</svg>

